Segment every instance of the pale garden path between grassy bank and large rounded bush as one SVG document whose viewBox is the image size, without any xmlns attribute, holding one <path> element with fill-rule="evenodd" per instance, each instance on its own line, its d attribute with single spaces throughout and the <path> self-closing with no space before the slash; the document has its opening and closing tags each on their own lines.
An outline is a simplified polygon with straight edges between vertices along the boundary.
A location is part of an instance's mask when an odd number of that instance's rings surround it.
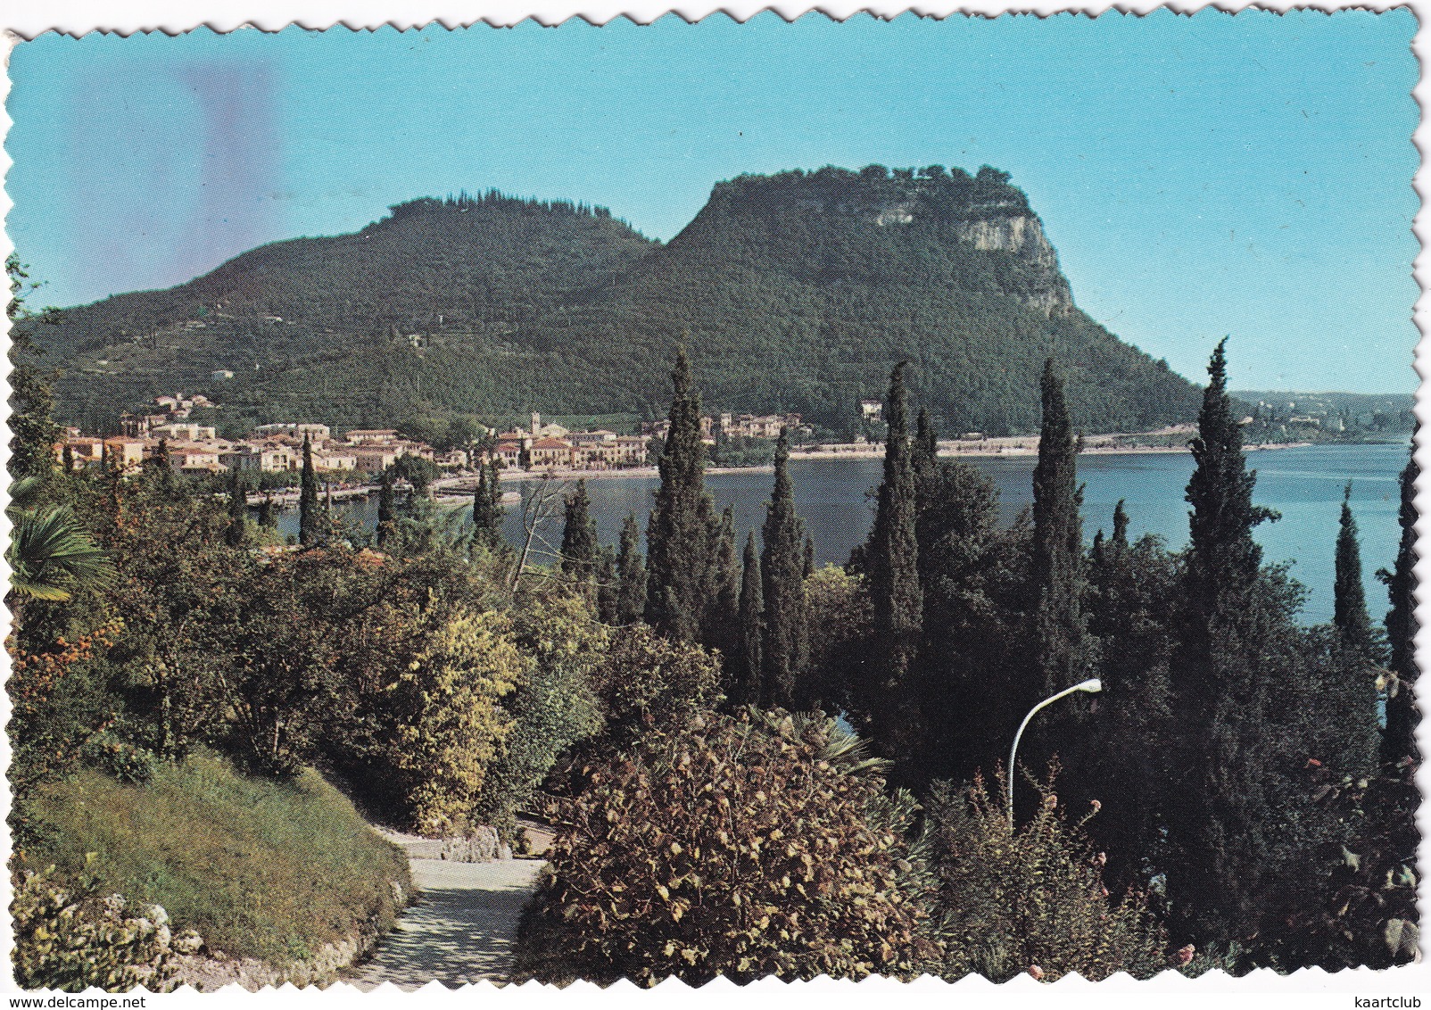
<svg viewBox="0 0 1431 1010">
<path fill-rule="evenodd" d="M 537 888 L 541 860 L 452 863 L 409 860 L 419 900 L 384 937 L 372 960 L 345 981 L 369 990 L 384 981 L 416 989 L 507 977 L 522 906 Z"/>
</svg>

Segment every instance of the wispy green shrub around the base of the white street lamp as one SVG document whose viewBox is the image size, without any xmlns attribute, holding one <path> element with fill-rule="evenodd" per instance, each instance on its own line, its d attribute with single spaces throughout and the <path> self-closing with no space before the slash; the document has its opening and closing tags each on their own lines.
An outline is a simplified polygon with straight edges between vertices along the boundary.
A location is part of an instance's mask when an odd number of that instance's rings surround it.
<svg viewBox="0 0 1431 1010">
<path fill-rule="evenodd" d="M 1039 810 L 1017 831 L 997 798 L 1002 790 L 995 795 L 982 778 L 963 793 L 936 783 L 929 814 L 947 928 L 942 974 L 1005 981 L 1027 971 L 1053 981 L 1070 971 L 1092 980 L 1128 971 L 1148 979 L 1175 961 L 1186 964 L 1191 948 L 1176 958 L 1163 953 L 1166 936 L 1143 896 L 1109 898 L 1105 855 L 1083 834 L 1098 808 L 1070 824 L 1052 781 L 1037 784 Z"/>
</svg>

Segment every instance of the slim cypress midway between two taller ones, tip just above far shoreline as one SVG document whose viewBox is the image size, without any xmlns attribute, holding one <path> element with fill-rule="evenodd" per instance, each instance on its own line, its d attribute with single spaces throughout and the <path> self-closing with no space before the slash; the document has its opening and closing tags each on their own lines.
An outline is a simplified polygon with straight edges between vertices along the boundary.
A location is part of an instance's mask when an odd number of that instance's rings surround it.
<svg viewBox="0 0 1431 1010">
<path fill-rule="evenodd" d="M 760 704 L 766 708 L 800 708 L 800 677 L 806 658 L 804 528 L 796 515 L 794 485 L 790 481 L 790 438 L 780 432 L 776 442 L 776 488 L 766 506 L 761 531 L 764 551 L 764 639 Z"/>
</svg>

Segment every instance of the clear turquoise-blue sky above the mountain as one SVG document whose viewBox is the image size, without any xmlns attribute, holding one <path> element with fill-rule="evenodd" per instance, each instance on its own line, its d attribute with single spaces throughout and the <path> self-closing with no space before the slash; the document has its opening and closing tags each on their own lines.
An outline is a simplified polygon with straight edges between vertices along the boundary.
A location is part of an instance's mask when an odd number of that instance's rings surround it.
<svg viewBox="0 0 1431 1010">
<path fill-rule="evenodd" d="M 665 239 L 743 172 L 987 163 L 1080 308 L 1183 375 L 1231 335 L 1236 388 L 1411 391 L 1414 31 L 1205 10 L 49 34 L 11 57 L 7 227 L 41 300 L 74 305 L 458 189 Z"/>
</svg>

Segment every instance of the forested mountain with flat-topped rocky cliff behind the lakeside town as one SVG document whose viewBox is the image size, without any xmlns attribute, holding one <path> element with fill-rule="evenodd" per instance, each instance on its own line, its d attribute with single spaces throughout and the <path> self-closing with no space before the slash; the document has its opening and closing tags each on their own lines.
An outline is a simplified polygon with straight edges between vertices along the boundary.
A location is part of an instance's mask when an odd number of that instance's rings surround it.
<svg viewBox="0 0 1431 1010">
<path fill-rule="evenodd" d="M 987 166 L 741 176 L 664 246 L 601 209 L 421 199 L 73 309 L 36 340 L 67 369 L 62 415 L 89 426 L 176 389 L 245 422 L 657 416 L 680 340 L 707 408 L 843 432 L 902 359 L 944 431 L 1032 431 L 1050 355 L 1082 428 L 1196 409 L 1185 379 L 1075 308 L 1037 216 Z"/>
</svg>

